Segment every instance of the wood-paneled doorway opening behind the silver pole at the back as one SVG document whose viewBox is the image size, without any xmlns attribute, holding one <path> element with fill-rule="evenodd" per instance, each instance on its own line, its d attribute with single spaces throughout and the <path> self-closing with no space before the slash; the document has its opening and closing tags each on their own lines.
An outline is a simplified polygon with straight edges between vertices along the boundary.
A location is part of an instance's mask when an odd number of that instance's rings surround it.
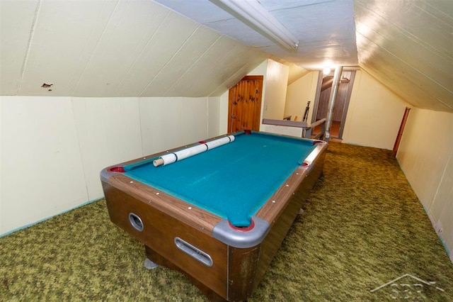
<svg viewBox="0 0 453 302">
<path fill-rule="evenodd" d="M 352 93 L 352 85 L 354 84 L 355 70 L 343 71 L 341 74 L 340 84 L 338 86 L 338 94 L 336 97 L 335 106 L 333 107 L 333 118 L 330 129 L 331 138 L 341 140 L 343 138 L 343 129 L 348 113 L 349 100 Z M 313 114 L 311 123 L 327 117 L 328 101 L 331 96 L 333 84 L 333 75 L 324 75 L 319 72 L 318 88 L 316 89 L 316 97 L 314 102 Z M 314 129 L 313 133 L 321 132 L 321 126 Z"/>
</svg>

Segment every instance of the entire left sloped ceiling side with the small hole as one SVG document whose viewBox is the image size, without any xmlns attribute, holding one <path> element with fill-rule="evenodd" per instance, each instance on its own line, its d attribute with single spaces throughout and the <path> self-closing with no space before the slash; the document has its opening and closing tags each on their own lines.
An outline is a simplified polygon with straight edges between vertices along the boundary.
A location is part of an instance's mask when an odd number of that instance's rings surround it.
<svg viewBox="0 0 453 302">
<path fill-rule="evenodd" d="M 1 0 L 0 26 L 0 95 L 219 95 L 267 57 L 154 1 Z"/>
</svg>

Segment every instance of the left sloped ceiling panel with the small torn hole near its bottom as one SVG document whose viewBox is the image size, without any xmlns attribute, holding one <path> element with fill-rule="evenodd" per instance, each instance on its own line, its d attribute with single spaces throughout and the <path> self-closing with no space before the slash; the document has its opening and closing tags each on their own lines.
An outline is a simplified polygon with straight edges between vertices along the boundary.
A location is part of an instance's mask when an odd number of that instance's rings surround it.
<svg viewBox="0 0 453 302">
<path fill-rule="evenodd" d="M 54 94 L 68 95 L 72 88 L 67 86 L 70 72 L 79 64 L 103 3 L 42 1 L 35 8 L 28 53 L 19 54 L 25 65 L 17 94 L 47 93 L 48 89 L 41 87 L 46 83 L 52 84 Z"/>
</svg>

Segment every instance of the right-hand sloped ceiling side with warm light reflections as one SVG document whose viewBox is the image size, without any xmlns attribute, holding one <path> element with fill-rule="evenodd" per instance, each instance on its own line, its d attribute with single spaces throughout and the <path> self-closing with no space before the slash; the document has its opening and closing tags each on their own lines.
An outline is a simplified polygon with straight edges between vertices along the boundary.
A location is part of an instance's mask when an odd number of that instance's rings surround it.
<svg viewBox="0 0 453 302">
<path fill-rule="evenodd" d="M 409 104 L 453 111 L 453 19 L 442 1 L 355 1 L 360 67 Z"/>
</svg>

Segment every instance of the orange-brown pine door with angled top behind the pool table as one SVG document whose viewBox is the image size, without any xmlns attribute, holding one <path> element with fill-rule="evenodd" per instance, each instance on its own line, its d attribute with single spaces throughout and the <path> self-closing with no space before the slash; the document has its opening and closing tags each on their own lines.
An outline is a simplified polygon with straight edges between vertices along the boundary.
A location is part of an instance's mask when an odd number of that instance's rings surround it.
<svg viewBox="0 0 453 302">
<path fill-rule="evenodd" d="M 263 76 L 243 77 L 229 89 L 228 132 L 260 130 Z"/>
</svg>

